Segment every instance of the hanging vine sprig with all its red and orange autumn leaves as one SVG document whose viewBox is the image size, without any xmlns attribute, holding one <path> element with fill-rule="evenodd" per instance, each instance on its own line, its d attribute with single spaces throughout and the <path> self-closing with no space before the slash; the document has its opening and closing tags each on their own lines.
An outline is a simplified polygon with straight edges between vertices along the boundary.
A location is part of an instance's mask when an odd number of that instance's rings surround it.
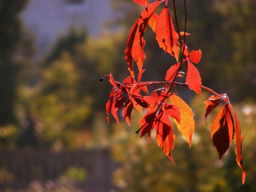
<svg viewBox="0 0 256 192">
<path fill-rule="evenodd" d="M 189 51 L 186 45 L 186 36 L 190 35 L 186 33 L 187 18 L 185 21 L 185 31 L 180 31 L 175 1 L 173 1 L 176 31 L 167 0 L 155 1 L 153 3 L 149 3 L 147 0 L 134 0 L 134 2 L 144 6 L 145 9 L 132 26 L 126 42 L 124 52 L 130 75 L 122 83 L 115 81 L 111 74 L 105 75 L 105 77 L 100 79 L 100 81 L 103 81 L 103 79 L 108 77 L 110 84 L 113 85 L 113 90 L 106 104 L 107 121 L 109 122 L 109 113 L 111 113 L 118 122 L 118 110 L 123 107 L 123 117 L 127 124 L 130 125 L 133 108 L 140 113 L 142 113 L 142 109 L 145 109 L 147 112 L 140 120 L 140 128 L 136 133 L 140 132 L 141 137 L 147 134 L 147 138 L 151 143 L 150 133 L 155 128 L 157 145 L 163 149 L 163 153 L 174 164 L 171 150 L 174 148 L 175 134 L 170 118 L 173 118 L 178 130 L 187 139 L 189 146 L 191 146 L 191 138 L 195 130 L 194 113 L 187 103 L 178 96 L 176 87 L 189 87 L 190 90 L 197 94 L 201 94 L 201 89 L 210 91 L 213 95 L 205 101 L 205 119 L 221 101 L 226 102 L 226 105 L 219 110 L 211 125 L 213 145 L 217 148 L 221 159 L 222 155 L 229 148 L 231 140 L 235 141 L 236 161 L 242 169 L 242 183 L 244 183 L 245 171 L 242 161 L 243 136 L 241 135 L 238 117 L 226 94 L 218 94 L 202 85 L 199 71 L 196 68 L 196 64 L 201 60 L 202 51 L 200 49 L 198 51 Z M 184 2 L 186 15 L 186 1 Z M 165 3 L 165 6 L 158 15 L 155 11 L 162 3 Z M 141 81 L 145 72 L 143 61 L 146 59 L 146 54 L 143 51 L 146 45 L 144 34 L 148 26 L 154 31 L 159 47 L 177 61 L 166 71 L 165 82 Z M 181 58 L 179 60 L 180 55 Z M 135 77 L 133 68 L 134 62 L 138 67 L 137 77 Z M 186 68 L 185 72 L 181 71 L 182 66 Z M 181 78 L 186 78 L 186 83 L 176 81 L 176 79 Z M 164 86 L 161 89 L 155 89 L 155 85 Z M 148 87 L 153 89 L 153 92 L 150 94 Z M 171 90 L 172 87 L 174 87 L 174 92 Z"/>
</svg>

